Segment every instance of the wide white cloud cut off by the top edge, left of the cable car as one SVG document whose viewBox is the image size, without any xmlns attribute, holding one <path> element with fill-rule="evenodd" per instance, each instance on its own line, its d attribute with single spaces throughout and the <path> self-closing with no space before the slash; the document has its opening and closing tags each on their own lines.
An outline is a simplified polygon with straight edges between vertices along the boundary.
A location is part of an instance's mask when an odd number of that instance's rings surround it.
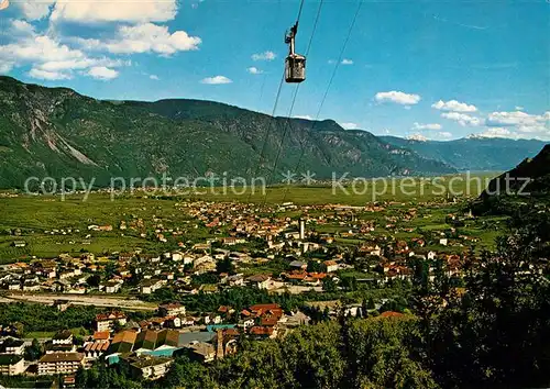
<svg viewBox="0 0 550 389">
<path fill-rule="evenodd" d="M 170 21 L 176 13 L 176 0 L 148 0 L 138 3 L 130 0 L 57 0 L 51 20 L 78 23 L 146 23 Z"/>
</svg>

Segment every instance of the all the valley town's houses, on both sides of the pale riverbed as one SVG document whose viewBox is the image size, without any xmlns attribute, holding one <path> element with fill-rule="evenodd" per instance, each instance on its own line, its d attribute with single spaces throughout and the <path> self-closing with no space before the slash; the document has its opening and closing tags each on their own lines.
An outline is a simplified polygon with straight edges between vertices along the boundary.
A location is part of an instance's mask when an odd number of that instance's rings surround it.
<svg viewBox="0 0 550 389">
<path fill-rule="evenodd" d="M 404 240 L 373 234 L 378 227 L 394 233 L 415 231 L 397 226 L 400 221 L 418 216 L 414 208 L 376 221 L 361 218 L 392 205 L 301 207 L 302 216 L 295 220 L 280 212 L 260 216 L 257 209 L 250 204 L 177 203 L 176 209 L 194 218 L 195 225 L 189 222 L 185 227 L 167 229 L 162 220 L 155 219 L 153 234 L 147 233 L 146 223 L 140 218 L 121 221 L 118 227 L 88 226 L 89 233 L 135 231 L 142 237 L 163 243 L 173 240 L 175 244 L 163 253 L 145 253 L 136 248 L 109 256 L 62 254 L 53 259 L 4 265 L 0 267 L 0 288 L 12 292 L 75 294 L 152 294 L 162 288 L 177 293 L 215 293 L 246 286 L 270 291 L 314 289 L 322 292 L 329 280 L 339 286 L 346 273 L 354 274 L 358 282 L 376 285 L 410 279 L 410 264 L 416 259 L 440 258 L 446 262 L 449 275 L 461 273 L 462 255 L 448 251 L 446 246 L 457 245 L 460 240 L 472 240 L 468 236 L 450 237 L 448 232 L 435 232 L 436 249 L 432 246 L 428 248 L 425 236 Z M 285 203 L 273 211 L 296 209 L 293 203 Z M 451 221 L 460 221 L 461 218 L 464 216 L 449 215 Z M 210 237 L 184 242 L 186 230 L 199 226 L 208 229 Z M 63 234 L 66 231 L 53 232 Z M 453 227 L 449 231 L 454 236 Z M 348 238 L 359 241 L 349 245 L 345 244 Z M 272 262 L 278 264 L 278 271 L 264 271 L 270 269 Z M 282 263 L 285 264 L 284 269 L 280 269 Z M 220 264 L 230 264 L 231 270 L 220 270 Z M 197 285 L 197 277 L 208 274 L 216 274 L 216 284 Z M 66 309 L 67 304 L 57 302 L 59 309 Z M 362 307 L 349 309 L 350 314 L 355 315 Z M 285 313 L 273 303 L 255 304 L 239 311 L 219 307 L 216 312 L 190 313 L 180 303 L 173 302 L 161 304 L 155 316 L 139 322 L 130 320 L 123 312 L 110 311 L 96 316 L 95 332 L 85 338 L 84 344 L 77 345 L 70 331 L 57 332 L 45 343 L 45 354 L 35 363 L 34 373 L 66 375 L 70 384 L 74 380 L 72 375 L 79 368 L 102 360 L 110 365 L 125 364 L 133 375 L 156 379 L 166 374 L 180 354 L 209 363 L 238 353 L 240 336 L 274 338 L 309 321 L 310 318 L 302 312 Z M 0 340 L 0 374 L 29 371 L 23 359 L 28 345 L 13 337 Z"/>
</svg>

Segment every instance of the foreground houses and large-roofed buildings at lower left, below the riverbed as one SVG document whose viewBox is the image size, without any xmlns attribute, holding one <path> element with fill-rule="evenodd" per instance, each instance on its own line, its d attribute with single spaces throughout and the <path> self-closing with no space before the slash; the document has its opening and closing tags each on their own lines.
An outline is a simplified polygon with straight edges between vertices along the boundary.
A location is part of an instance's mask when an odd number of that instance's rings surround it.
<svg viewBox="0 0 550 389">
<path fill-rule="evenodd" d="M 43 347 L 37 362 L 24 363 L 30 343 L 15 337 L 0 340 L 0 374 L 68 376 L 89 368 L 97 360 L 108 365 L 125 364 L 132 375 L 157 379 L 166 374 L 178 355 L 210 363 L 235 354 L 242 335 L 253 340 L 284 336 L 310 319 L 301 312 L 286 314 L 277 304 L 255 304 L 235 311 L 222 305 L 209 314 L 189 314 L 178 302 L 158 305 L 157 315 L 139 322 L 120 311 L 96 315 L 94 334 L 84 343 L 68 330 L 58 331 Z"/>
</svg>

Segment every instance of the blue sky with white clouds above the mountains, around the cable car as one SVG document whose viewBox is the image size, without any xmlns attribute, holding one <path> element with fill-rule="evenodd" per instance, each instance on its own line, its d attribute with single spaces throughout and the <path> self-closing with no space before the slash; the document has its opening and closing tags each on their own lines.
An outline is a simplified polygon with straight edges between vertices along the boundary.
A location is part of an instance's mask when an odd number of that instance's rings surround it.
<svg viewBox="0 0 550 389">
<path fill-rule="evenodd" d="M 12 1 L 0 73 L 100 99 L 195 98 L 271 113 L 295 0 Z M 295 116 L 316 118 L 358 7 L 322 4 Z M 319 1 L 305 1 L 306 52 Z M 550 3 L 364 1 L 320 119 L 416 138 L 550 140 Z M 297 88 L 285 85 L 277 115 Z"/>
</svg>

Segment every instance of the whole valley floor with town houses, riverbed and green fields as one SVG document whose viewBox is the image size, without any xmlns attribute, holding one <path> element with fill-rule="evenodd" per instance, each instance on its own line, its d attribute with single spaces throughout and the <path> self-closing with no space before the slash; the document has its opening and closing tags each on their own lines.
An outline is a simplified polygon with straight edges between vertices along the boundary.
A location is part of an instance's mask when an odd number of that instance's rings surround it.
<svg viewBox="0 0 550 389">
<path fill-rule="evenodd" d="M 25 226 L 3 226 L 1 302 L 61 318 L 88 307 L 87 319 L 29 326 L 6 310 L 0 362 L 3 375 L 62 375 L 65 387 L 98 363 L 156 380 L 178 355 L 209 364 L 238 354 L 241 337 L 284 338 L 342 314 L 410 315 L 415 264 L 430 263 L 430 278 L 442 264 L 460 293 L 466 257 L 504 229 L 449 197 L 346 205 L 133 196 L 99 214 L 103 194 L 63 200 L 0 199 L 29 208 Z M 78 215 L 47 225 L 52 204 Z M 119 249 L 98 249 L 113 242 Z"/>
</svg>

